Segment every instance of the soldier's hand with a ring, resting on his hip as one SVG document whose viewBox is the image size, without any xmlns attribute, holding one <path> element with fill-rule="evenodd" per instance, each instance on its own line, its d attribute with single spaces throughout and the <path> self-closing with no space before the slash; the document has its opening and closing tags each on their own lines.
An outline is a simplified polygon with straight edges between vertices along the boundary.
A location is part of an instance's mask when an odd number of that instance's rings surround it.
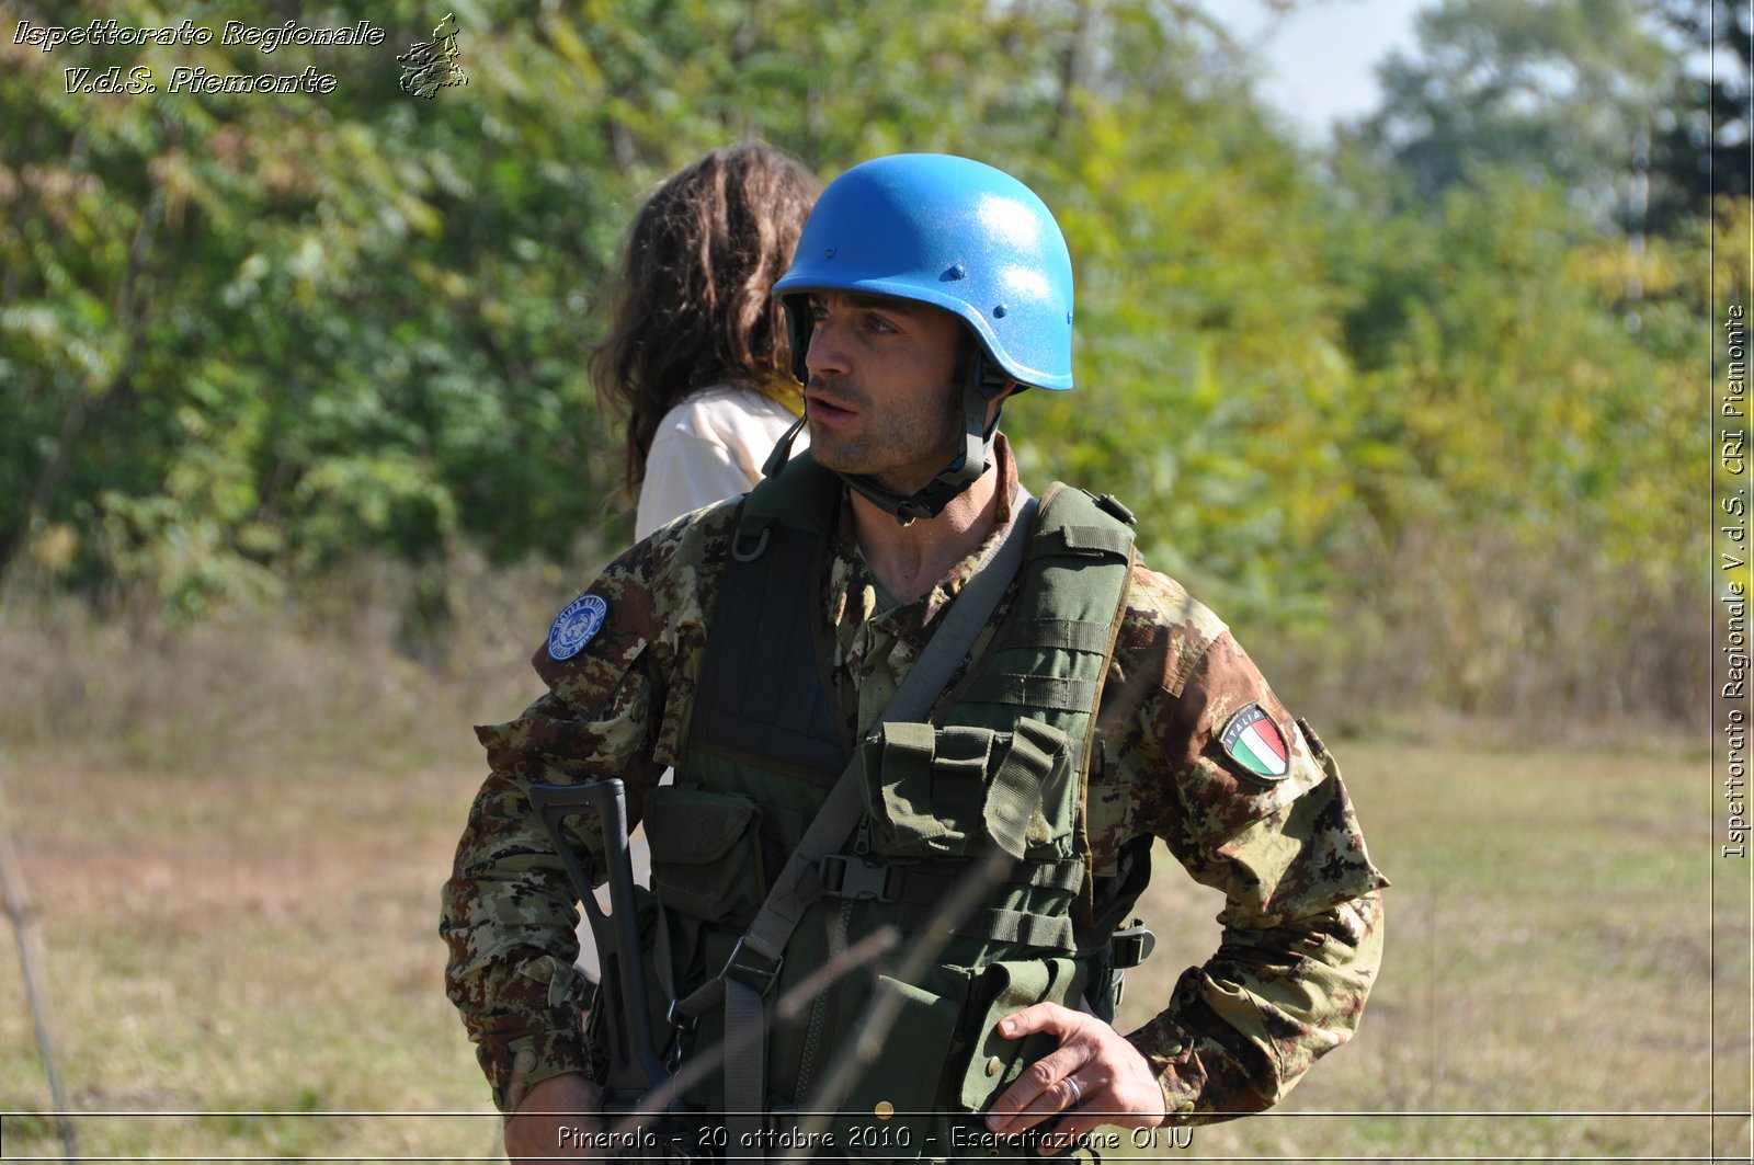
<svg viewBox="0 0 1754 1165">
<path fill-rule="evenodd" d="M 1098 1125 L 1156 1128 L 1163 1123 L 1163 1090 L 1151 1063 L 1119 1032 L 1082 1011 L 1037 1004 L 998 1025 L 1005 1039 L 1035 1032 L 1059 1037 L 1059 1047 L 1042 1056 L 993 1102 L 988 1128 L 1014 1137 L 1061 1116 L 1040 1151 L 1058 1153 Z"/>
</svg>

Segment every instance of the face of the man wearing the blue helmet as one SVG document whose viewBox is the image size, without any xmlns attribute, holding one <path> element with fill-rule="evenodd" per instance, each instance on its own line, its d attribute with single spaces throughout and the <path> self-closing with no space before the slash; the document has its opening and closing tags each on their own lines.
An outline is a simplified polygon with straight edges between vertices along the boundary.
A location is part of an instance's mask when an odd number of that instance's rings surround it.
<svg viewBox="0 0 1754 1165">
<path fill-rule="evenodd" d="M 921 490 L 961 451 L 961 321 L 930 304 L 838 291 L 812 295 L 810 312 L 810 456 L 898 493 Z"/>
</svg>

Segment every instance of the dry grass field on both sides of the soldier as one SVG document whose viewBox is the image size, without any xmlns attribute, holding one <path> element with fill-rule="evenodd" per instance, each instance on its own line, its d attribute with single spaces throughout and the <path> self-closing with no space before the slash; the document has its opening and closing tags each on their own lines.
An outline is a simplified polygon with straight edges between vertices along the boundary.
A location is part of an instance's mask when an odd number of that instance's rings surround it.
<svg viewBox="0 0 1754 1165">
<path fill-rule="evenodd" d="M 1747 1118 L 1701 1116 L 1714 1088 L 1745 1112 L 1750 1079 L 1747 867 L 1714 865 L 1710 758 L 1338 751 L 1394 881 L 1365 1025 L 1279 1112 L 1142 1156 L 1745 1160 Z M 467 740 L 409 772 L 0 775 L 82 1156 L 495 1160 L 435 933 Z M 1217 902 L 1161 863 L 1142 911 L 1133 1018 L 1210 949 Z M 58 1156 L 47 1107 L 7 930 L 0 1156 Z"/>
</svg>

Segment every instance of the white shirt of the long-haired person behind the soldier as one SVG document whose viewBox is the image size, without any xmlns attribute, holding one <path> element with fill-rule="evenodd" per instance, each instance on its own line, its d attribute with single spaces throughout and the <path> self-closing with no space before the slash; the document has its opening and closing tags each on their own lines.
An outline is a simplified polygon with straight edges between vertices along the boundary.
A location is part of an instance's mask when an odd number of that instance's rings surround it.
<svg viewBox="0 0 1754 1165">
<path fill-rule="evenodd" d="M 670 409 L 645 456 L 633 537 L 644 539 L 702 505 L 749 493 L 761 481 L 761 463 L 774 444 L 796 419 L 777 400 L 728 384 L 703 388 Z M 807 444 L 809 435 L 798 433 L 795 449 Z"/>
</svg>

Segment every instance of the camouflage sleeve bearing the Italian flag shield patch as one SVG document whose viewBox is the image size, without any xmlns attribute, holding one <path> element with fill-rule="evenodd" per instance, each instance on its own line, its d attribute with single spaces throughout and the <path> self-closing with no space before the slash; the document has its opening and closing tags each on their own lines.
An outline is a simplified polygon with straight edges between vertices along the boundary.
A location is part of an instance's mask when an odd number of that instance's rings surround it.
<svg viewBox="0 0 1754 1165">
<path fill-rule="evenodd" d="M 1094 846 L 1093 818 L 1093 849 L 1100 860 L 1114 839 L 1151 833 L 1224 893 L 1219 949 L 1128 1039 L 1158 1072 L 1172 1119 L 1259 1112 L 1358 1026 L 1382 956 L 1387 879 L 1333 756 L 1224 625 L 1144 570 L 1128 605 L 1110 675 L 1119 698 L 1103 702 L 1105 763 L 1093 775 L 1093 807 L 1110 811 L 1107 844 Z"/>
</svg>

